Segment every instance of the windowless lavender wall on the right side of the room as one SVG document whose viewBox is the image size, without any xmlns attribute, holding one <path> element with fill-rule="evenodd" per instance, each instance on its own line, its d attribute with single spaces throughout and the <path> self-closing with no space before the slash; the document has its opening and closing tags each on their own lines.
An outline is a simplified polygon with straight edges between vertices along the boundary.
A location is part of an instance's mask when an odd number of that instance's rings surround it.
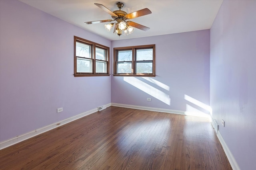
<svg viewBox="0 0 256 170">
<path fill-rule="evenodd" d="M 255 9 L 256 1 L 224 1 L 210 29 L 212 117 L 242 170 L 256 169 Z"/>
</svg>

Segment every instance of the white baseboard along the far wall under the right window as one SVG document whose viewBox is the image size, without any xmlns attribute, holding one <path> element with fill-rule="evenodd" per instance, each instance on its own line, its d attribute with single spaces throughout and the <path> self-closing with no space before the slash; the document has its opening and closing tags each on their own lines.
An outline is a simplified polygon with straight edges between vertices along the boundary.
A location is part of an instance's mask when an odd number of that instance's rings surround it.
<svg viewBox="0 0 256 170">
<path fill-rule="evenodd" d="M 181 111 L 181 110 L 162 109 L 162 108 L 156 108 L 156 107 L 135 106 L 135 105 L 118 104 L 118 103 L 111 103 L 111 106 L 210 118 L 210 115 L 208 113 L 188 112 L 188 111 Z"/>
</svg>

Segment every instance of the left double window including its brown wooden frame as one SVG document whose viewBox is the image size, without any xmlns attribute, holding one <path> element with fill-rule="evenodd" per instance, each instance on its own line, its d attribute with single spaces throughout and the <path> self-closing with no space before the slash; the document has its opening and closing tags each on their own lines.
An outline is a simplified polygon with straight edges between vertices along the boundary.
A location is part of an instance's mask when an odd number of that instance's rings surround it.
<svg viewBox="0 0 256 170">
<path fill-rule="evenodd" d="M 109 47 L 74 36 L 74 76 L 109 76 Z"/>
</svg>

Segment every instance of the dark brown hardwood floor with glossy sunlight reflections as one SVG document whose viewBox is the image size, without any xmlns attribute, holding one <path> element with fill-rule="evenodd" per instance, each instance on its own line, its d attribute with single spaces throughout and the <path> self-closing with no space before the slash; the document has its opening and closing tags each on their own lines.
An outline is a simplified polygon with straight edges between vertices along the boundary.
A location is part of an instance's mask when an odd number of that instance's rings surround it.
<svg viewBox="0 0 256 170">
<path fill-rule="evenodd" d="M 6 149 L 1 170 L 232 170 L 207 118 L 108 107 Z"/>
</svg>

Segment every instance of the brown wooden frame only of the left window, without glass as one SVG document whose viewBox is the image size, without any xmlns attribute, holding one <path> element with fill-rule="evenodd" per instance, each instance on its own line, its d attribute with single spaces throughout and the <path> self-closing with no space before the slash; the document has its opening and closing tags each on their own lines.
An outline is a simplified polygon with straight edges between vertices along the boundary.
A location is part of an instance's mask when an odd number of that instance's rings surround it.
<svg viewBox="0 0 256 170">
<path fill-rule="evenodd" d="M 76 60 L 77 58 L 83 58 L 83 57 L 77 57 L 76 56 L 76 42 L 84 43 L 86 45 L 90 45 L 92 49 L 91 53 L 91 60 L 92 60 L 92 73 L 90 72 L 76 72 Z M 96 47 L 100 49 L 106 50 L 106 65 L 107 65 L 107 72 L 106 73 L 96 73 L 96 61 L 102 61 L 102 60 L 96 60 Z M 85 76 L 109 76 L 110 75 L 110 64 L 109 64 L 109 47 L 106 47 L 104 45 L 94 43 L 92 41 L 76 37 L 74 36 L 74 76 L 75 77 L 85 77 Z M 87 58 L 86 58 L 87 59 Z M 105 61 L 105 60 L 104 60 Z"/>
</svg>

